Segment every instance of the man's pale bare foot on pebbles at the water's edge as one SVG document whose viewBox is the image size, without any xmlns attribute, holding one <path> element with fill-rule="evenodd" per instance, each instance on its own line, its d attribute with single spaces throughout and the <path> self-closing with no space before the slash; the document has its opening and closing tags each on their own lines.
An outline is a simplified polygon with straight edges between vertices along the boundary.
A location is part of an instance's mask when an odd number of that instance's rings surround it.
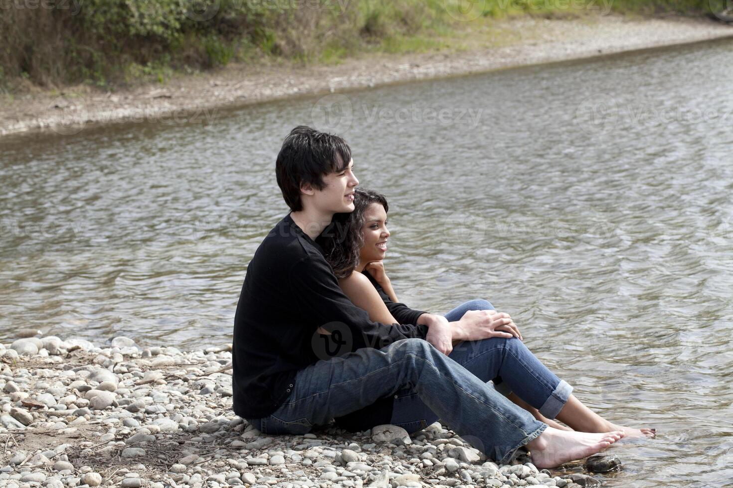
<svg viewBox="0 0 733 488">
<path fill-rule="evenodd" d="M 537 438 L 527 443 L 526 447 L 530 451 L 532 464 L 538 469 L 556 468 L 565 462 L 596 454 L 624 435 L 622 431 L 586 434 L 548 427 Z"/>
</svg>

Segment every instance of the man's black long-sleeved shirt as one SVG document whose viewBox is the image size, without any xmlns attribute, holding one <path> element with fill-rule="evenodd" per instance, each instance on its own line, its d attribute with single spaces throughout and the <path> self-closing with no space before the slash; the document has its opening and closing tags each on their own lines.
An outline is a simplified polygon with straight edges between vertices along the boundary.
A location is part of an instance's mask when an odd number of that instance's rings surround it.
<svg viewBox="0 0 733 488">
<path fill-rule="evenodd" d="M 424 313 L 404 304 L 390 307 L 397 320 L 416 321 Z M 319 327 L 330 334 L 319 334 Z M 287 214 L 254 253 L 237 304 L 235 413 L 243 418 L 270 415 L 290 395 L 298 370 L 320 359 L 426 335 L 427 326 L 369 320 L 339 288 L 323 249 Z"/>
</svg>

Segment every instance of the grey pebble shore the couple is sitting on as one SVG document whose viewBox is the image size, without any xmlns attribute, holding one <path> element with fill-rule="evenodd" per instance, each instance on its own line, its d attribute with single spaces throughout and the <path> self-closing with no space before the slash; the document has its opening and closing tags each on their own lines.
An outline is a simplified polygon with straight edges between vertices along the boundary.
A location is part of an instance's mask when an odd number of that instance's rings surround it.
<svg viewBox="0 0 733 488">
<path fill-rule="evenodd" d="M 263 435 L 232 411 L 231 358 L 231 345 L 141 349 L 127 337 L 0 344 L 0 487 L 598 486 L 577 463 L 496 465 L 439 422 L 412 435 Z"/>
</svg>

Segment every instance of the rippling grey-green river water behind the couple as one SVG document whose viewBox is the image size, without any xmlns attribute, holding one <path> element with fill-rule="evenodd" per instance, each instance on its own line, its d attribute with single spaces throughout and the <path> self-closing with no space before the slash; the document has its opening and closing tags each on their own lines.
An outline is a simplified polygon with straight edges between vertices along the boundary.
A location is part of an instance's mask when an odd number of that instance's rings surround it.
<svg viewBox="0 0 733 488">
<path fill-rule="evenodd" d="M 657 439 L 611 487 L 733 479 L 733 42 L 0 143 L 0 340 L 231 340 L 287 213 L 284 135 L 344 135 L 391 206 L 386 268 L 435 312 L 487 298 L 575 393 Z M 470 110 L 469 110 L 470 109 Z"/>
</svg>

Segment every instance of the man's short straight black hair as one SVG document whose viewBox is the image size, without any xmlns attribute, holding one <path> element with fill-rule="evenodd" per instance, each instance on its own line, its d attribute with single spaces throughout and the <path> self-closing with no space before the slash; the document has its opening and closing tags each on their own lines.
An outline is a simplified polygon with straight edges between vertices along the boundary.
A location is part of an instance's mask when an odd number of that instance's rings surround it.
<svg viewBox="0 0 733 488">
<path fill-rule="evenodd" d="M 303 209 L 301 184 L 325 188 L 323 176 L 343 171 L 351 161 L 351 149 L 338 135 L 299 125 L 282 143 L 275 162 L 277 184 L 292 211 Z"/>
</svg>

